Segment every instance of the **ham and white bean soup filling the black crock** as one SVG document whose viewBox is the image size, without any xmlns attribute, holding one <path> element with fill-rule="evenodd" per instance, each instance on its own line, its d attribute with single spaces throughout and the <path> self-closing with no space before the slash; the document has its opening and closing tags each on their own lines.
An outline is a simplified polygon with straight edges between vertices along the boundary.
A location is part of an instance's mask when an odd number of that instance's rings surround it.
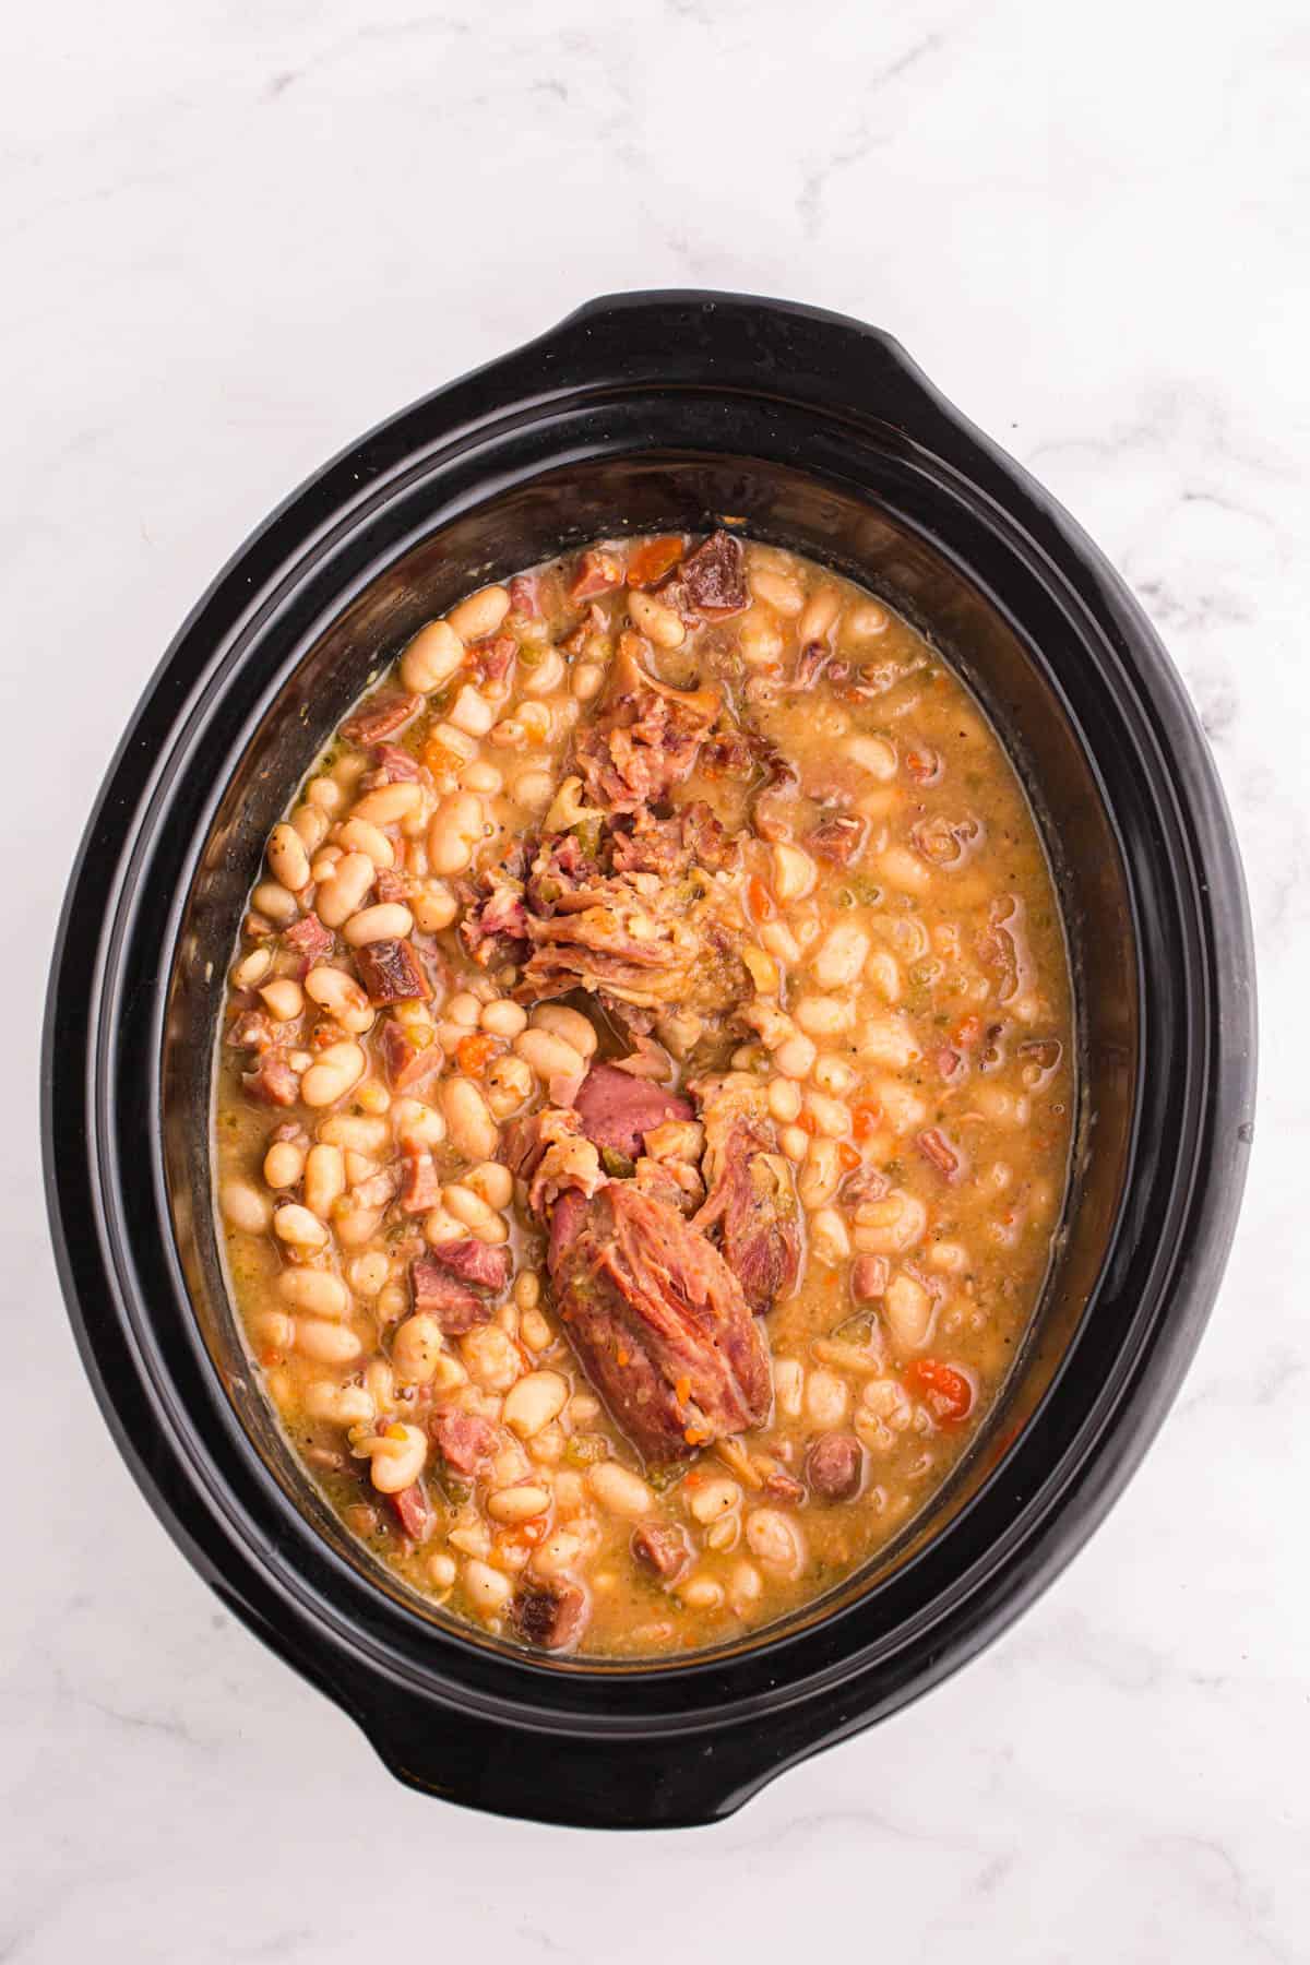
<svg viewBox="0 0 1310 1965">
<path fill-rule="evenodd" d="M 1051 870 L 943 660 L 795 554 L 607 540 L 420 629 L 273 827 L 218 1067 L 236 1301 L 407 1584 L 680 1655 L 951 1474 L 1072 1112 Z"/>
</svg>

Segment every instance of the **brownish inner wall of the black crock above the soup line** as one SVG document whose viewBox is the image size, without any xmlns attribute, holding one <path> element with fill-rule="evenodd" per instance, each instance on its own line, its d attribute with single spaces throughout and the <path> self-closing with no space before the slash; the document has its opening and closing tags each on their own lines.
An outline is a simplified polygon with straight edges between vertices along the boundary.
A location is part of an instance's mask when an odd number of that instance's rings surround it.
<svg viewBox="0 0 1310 1965">
<path fill-rule="evenodd" d="M 1080 1018 L 1082 1114 L 1076 1175 L 1041 1315 L 978 1450 L 898 1552 L 839 1592 L 870 1588 L 964 1505 L 1068 1358 L 1123 1193 L 1137 1073 L 1137 982 L 1121 855 L 1057 680 L 1063 654 L 1025 643 L 1004 595 L 984 591 L 919 525 L 839 481 L 782 464 L 715 456 L 589 458 L 503 489 L 418 540 L 379 542 L 357 595 L 316 633 L 232 757 L 173 967 L 165 1038 L 165 1150 L 179 1254 L 208 1354 L 267 1466 L 334 1548 L 383 1590 L 391 1578 L 346 1537 L 308 1486 L 251 1381 L 228 1303 L 210 1171 L 212 1053 L 226 969 L 263 841 L 291 788 L 365 682 L 469 586 L 623 531 L 707 529 L 721 515 L 866 584 L 907 615 L 976 692 L 1027 786 L 1057 870 Z M 265 682 L 295 658 L 265 641 Z M 403 1598 L 412 1609 L 414 1603 Z M 827 1613 L 835 1600 L 809 1615 Z M 444 1619 L 442 1619 L 444 1621 Z M 758 1643 L 756 1639 L 754 1643 Z"/>
</svg>

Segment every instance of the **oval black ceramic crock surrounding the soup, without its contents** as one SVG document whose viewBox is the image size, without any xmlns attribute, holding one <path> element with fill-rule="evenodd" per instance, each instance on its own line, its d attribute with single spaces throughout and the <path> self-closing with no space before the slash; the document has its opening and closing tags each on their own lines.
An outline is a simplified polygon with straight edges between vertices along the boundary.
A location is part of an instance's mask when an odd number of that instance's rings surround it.
<svg viewBox="0 0 1310 1965">
<path fill-rule="evenodd" d="M 379 656 L 469 586 L 572 542 L 721 515 L 886 595 L 1006 735 L 1076 965 L 1076 1183 L 998 1417 L 872 1572 L 689 1662 L 536 1660 L 373 1568 L 251 1385 L 210 1210 L 224 971 L 267 829 Z M 43 1134 L 100 1405 L 226 1603 L 403 1780 L 544 1822 L 654 1827 L 725 1816 L 925 1692 L 1086 1541 L 1210 1311 L 1253 1085 L 1231 825 L 1176 674 L 1100 552 L 886 334 L 646 293 L 595 301 L 403 411 L 218 576 L 82 841 Z"/>
</svg>

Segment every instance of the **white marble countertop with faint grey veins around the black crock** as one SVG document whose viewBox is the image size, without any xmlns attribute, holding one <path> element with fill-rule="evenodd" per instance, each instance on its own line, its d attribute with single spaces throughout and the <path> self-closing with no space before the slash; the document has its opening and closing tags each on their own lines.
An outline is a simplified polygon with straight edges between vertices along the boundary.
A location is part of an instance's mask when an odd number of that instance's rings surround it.
<svg viewBox="0 0 1310 1965">
<path fill-rule="evenodd" d="M 1304 1959 L 1304 6 L 73 0 L 6 10 L 0 77 L 0 713 L 57 733 L 10 739 L 0 847 L 0 1959 Z M 218 564 L 375 419 L 652 285 L 892 328 L 1106 546 L 1224 772 L 1265 1069 L 1218 1313 L 1090 1548 L 727 1825 L 601 1841 L 405 1792 L 157 1527 L 59 1301 L 31 1032 L 94 786 Z"/>
</svg>

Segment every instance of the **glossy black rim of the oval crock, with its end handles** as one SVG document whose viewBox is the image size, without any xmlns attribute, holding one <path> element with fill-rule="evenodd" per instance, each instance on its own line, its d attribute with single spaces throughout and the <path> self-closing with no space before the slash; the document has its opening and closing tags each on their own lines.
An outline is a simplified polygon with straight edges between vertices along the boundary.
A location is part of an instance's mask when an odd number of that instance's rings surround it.
<svg viewBox="0 0 1310 1965">
<path fill-rule="evenodd" d="M 334 605 L 348 597 L 344 584 L 332 588 L 332 560 L 375 513 L 442 474 L 460 477 L 448 511 L 495 495 L 503 458 L 524 432 L 538 446 L 538 468 L 550 470 L 573 454 L 579 405 L 634 391 L 695 391 L 709 405 L 762 399 L 780 417 L 845 421 L 862 438 L 874 430 L 915 460 L 941 499 L 966 501 L 1004 550 L 1023 558 L 1098 650 L 1106 692 L 1149 780 L 1161 853 L 1178 884 L 1184 988 L 1202 1041 L 1188 1067 L 1176 1155 L 1159 1175 L 1159 1258 L 1143 1271 L 1116 1370 L 1059 1456 L 1047 1442 L 1043 1458 L 1029 1429 L 1000 1464 L 992 1486 L 1013 1488 L 1006 1529 L 951 1590 L 925 1598 L 882 1643 L 864 1633 L 854 1651 L 829 1633 L 821 1653 L 813 1633 L 801 1633 L 760 1647 L 750 1668 L 693 1660 L 570 1674 L 487 1660 L 458 1639 L 424 1649 L 403 1631 L 407 1617 L 416 1619 L 379 1592 L 377 1615 L 363 1611 L 359 1578 L 328 1550 L 310 1556 L 283 1521 L 285 1495 L 216 1385 L 210 1417 L 218 1429 L 226 1413 L 226 1448 L 214 1450 L 214 1432 L 200 1436 L 192 1397 L 155 1342 L 163 1283 L 185 1301 L 177 1252 L 163 1228 L 143 1252 L 124 1207 L 124 1195 L 149 1183 L 155 1222 L 169 1220 L 157 1138 L 149 1126 L 143 1140 L 124 1136 L 112 1051 L 141 1018 L 145 937 L 159 963 L 139 1028 L 155 1038 L 163 1030 L 185 886 L 167 894 L 151 886 L 161 827 L 183 774 L 204 768 L 232 674 L 279 611 L 324 570 Z M 267 696 L 293 660 L 295 650 L 269 674 Z M 220 790 L 216 782 L 210 810 Z M 1114 812 L 1110 794 L 1106 802 Z M 204 831 L 194 827 L 192 855 Z M 1149 961 L 1151 949 L 1139 947 L 1147 988 Z M 151 1069 L 143 1053 L 141 1071 Z M 51 1226 L 81 1352 L 120 1450 L 194 1566 L 359 1717 L 403 1778 L 544 1820 L 662 1825 L 727 1812 L 780 1767 L 927 1690 L 1004 1629 L 1090 1535 L 1157 1431 L 1210 1311 L 1245 1177 L 1253 1091 L 1253 957 L 1231 823 L 1178 678 L 1123 584 L 888 336 L 813 309 L 699 293 L 591 303 L 350 446 L 236 554 L 151 680 L 88 823 L 55 949 L 41 1069 Z M 196 1370 L 204 1372 L 202 1360 Z M 432 1729 L 438 1753 L 426 1739 Z M 617 1798 L 615 1751 L 625 1757 L 627 1800 Z M 558 1774 L 562 1755 L 564 1792 L 542 1794 L 552 1778 L 546 1763 Z"/>
</svg>

